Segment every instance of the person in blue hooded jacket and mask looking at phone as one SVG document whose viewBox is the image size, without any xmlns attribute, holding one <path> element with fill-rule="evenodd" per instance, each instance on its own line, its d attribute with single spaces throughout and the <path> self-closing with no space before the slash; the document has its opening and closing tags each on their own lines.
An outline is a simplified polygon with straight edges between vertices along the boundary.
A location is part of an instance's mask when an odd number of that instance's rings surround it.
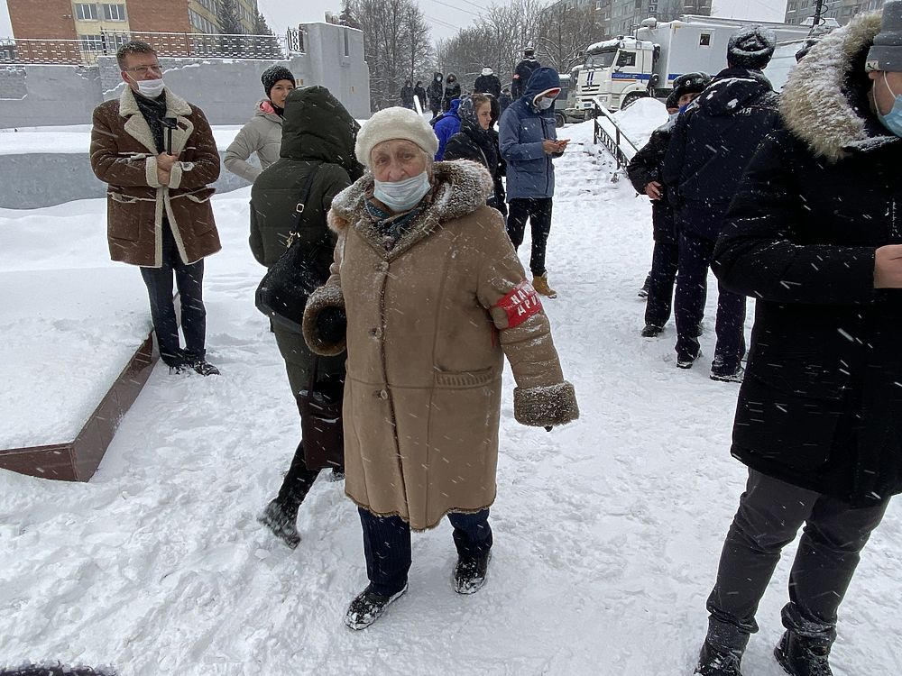
<svg viewBox="0 0 902 676">
<path fill-rule="evenodd" d="M 526 222 L 532 229 L 529 269 L 532 286 L 543 296 L 556 298 L 548 286 L 545 248 L 551 232 L 551 207 L 555 194 L 553 159 L 566 150 L 569 139 L 557 140 L 555 99 L 561 93 L 557 70 L 536 70 L 526 92 L 502 114 L 498 123 L 502 158 L 507 161 L 508 235 L 514 248 L 523 243 Z"/>
</svg>

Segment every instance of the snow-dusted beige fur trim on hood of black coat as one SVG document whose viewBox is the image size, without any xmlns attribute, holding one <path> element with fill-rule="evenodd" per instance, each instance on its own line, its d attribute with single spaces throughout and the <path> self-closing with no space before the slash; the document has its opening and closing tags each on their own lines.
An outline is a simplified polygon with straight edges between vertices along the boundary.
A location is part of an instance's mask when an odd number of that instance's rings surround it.
<svg viewBox="0 0 902 676">
<path fill-rule="evenodd" d="M 870 113 L 864 61 L 880 31 L 880 13 L 862 14 L 826 35 L 798 62 L 780 100 L 789 132 L 831 163 L 897 136 Z"/>
</svg>

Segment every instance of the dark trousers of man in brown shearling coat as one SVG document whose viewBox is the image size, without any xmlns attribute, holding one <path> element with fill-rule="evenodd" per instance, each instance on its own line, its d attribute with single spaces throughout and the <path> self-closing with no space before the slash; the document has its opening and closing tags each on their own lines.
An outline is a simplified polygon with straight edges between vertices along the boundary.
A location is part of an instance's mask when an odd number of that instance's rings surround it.
<svg viewBox="0 0 902 676">
<path fill-rule="evenodd" d="M 172 278 L 179 289 L 181 330 L 185 349 L 179 347 L 179 323 L 172 300 Z M 203 359 L 206 354 L 207 308 L 204 306 L 204 261 L 187 265 L 179 256 L 169 222 L 163 220 L 162 266 L 142 268 L 141 276 L 151 301 L 153 332 L 157 334 L 162 361 L 178 366 L 185 360 Z"/>
</svg>

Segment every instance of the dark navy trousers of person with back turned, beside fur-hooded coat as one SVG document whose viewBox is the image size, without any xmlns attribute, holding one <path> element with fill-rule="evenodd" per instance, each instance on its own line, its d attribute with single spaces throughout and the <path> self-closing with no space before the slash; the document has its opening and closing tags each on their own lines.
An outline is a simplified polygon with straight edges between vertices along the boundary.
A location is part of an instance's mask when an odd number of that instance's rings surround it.
<svg viewBox="0 0 902 676">
<path fill-rule="evenodd" d="M 681 229 L 679 233 L 679 272 L 676 275 L 676 353 L 698 354 L 698 324 L 704 315 L 708 289 L 708 266 L 714 242 Z M 732 372 L 745 356 L 745 297 L 722 286 L 717 287 L 717 318 L 714 361 L 718 370 Z"/>
</svg>

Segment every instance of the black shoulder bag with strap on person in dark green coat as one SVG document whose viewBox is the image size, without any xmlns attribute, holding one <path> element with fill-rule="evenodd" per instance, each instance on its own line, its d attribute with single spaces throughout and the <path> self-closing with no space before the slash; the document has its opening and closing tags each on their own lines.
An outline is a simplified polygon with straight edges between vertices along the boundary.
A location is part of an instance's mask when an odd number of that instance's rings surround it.
<svg viewBox="0 0 902 676">
<path fill-rule="evenodd" d="M 300 224 L 310 196 L 313 177 L 319 164 L 313 165 L 301 191 L 298 206 L 292 217 L 288 249 L 267 270 L 257 286 L 254 303 L 257 309 L 290 331 L 301 333 L 307 299 L 328 279 L 328 270 L 319 269 L 318 254 L 331 245 L 328 235 L 312 245 L 301 237 Z"/>
</svg>

